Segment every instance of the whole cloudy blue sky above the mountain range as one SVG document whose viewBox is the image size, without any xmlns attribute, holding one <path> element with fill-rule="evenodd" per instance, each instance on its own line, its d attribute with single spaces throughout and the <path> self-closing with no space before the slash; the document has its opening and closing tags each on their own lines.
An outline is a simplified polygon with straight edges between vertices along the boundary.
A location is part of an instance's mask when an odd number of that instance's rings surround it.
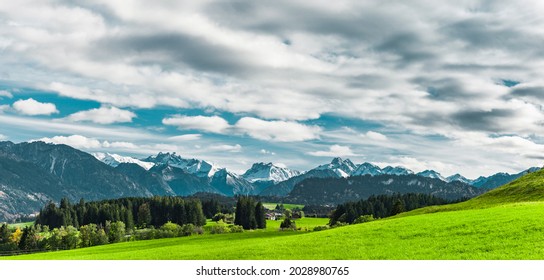
<svg viewBox="0 0 544 280">
<path fill-rule="evenodd" d="M 243 172 L 544 160 L 542 1 L 0 1 L 0 140 Z"/>
</svg>

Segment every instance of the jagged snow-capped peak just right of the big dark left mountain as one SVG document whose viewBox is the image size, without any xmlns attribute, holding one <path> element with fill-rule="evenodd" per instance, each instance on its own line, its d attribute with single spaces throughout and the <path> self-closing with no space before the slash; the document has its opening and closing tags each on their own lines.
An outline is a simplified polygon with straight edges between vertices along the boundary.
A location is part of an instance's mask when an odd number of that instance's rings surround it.
<svg viewBox="0 0 544 280">
<path fill-rule="evenodd" d="M 174 153 L 159 153 L 142 159 L 144 162 L 166 164 L 184 170 L 198 177 L 212 177 L 220 168 L 213 163 L 199 159 L 184 159 Z"/>
</svg>

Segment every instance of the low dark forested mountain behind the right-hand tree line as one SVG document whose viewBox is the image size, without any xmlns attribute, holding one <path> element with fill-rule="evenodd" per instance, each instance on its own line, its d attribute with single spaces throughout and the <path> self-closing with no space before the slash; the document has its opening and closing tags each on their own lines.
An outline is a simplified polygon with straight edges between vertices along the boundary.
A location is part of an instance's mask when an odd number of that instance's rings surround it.
<svg viewBox="0 0 544 280">
<path fill-rule="evenodd" d="M 335 205 L 371 195 L 425 193 L 446 199 L 474 197 L 486 192 L 462 182 L 447 183 L 418 175 L 377 175 L 349 178 L 309 178 L 293 188 L 285 201 L 310 205 Z"/>
</svg>

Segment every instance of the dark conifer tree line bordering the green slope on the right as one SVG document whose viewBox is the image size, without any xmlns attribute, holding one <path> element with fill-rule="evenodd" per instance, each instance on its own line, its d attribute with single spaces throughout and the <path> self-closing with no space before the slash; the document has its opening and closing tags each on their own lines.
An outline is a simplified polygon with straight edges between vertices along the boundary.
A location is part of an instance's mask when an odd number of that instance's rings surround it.
<svg viewBox="0 0 544 280">
<path fill-rule="evenodd" d="M 385 218 L 416 208 L 448 203 L 452 202 L 430 194 L 421 193 L 373 195 L 368 199 L 357 202 L 339 204 L 331 212 L 329 225 L 334 226 L 338 223 L 353 224 L 362 216 L 367 216 L 365 219 L 369 217 Z"/>
</svg>

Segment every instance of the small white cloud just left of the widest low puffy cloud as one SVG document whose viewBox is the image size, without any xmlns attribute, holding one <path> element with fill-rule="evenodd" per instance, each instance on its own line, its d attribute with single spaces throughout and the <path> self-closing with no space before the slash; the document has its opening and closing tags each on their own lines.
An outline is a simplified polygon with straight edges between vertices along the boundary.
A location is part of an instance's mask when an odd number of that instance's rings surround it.
<svg viewBox="0 0 544 280">
<path fill-rule="evenodd" d="M 225 133 L 229 123 L 218 116 L 173 116 L 162 120 L 165 125 L 177 126 L 179 129 L 194 129 L 213 133 Z"/>
</svg>

